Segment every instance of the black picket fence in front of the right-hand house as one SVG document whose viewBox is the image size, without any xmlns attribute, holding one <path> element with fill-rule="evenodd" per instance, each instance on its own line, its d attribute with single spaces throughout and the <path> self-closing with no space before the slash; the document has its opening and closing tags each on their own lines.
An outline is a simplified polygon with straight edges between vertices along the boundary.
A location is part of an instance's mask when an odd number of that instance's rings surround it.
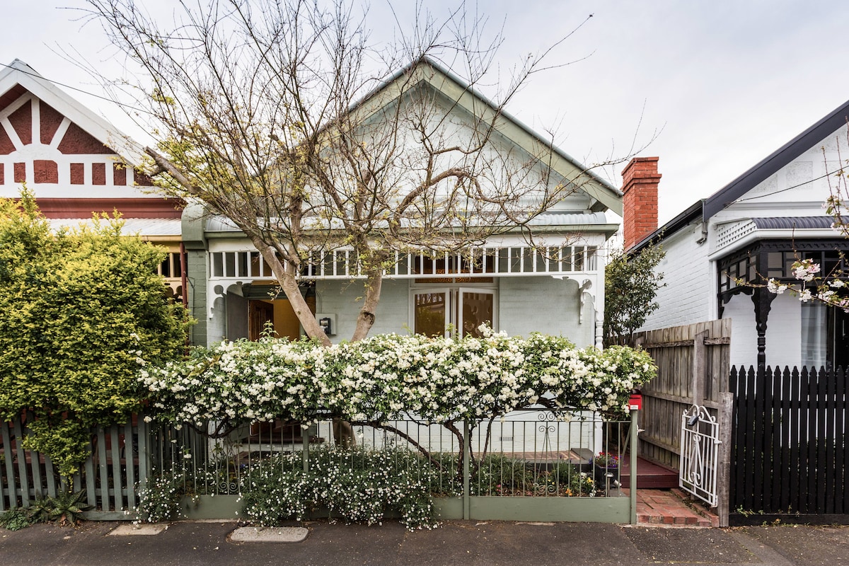
<svg viewBox="0 0 849 566">
<path fill-rule="evenodd" d="M 849 524 L 846 372 L 732 368 L 732 524 Z"/>
</svg>

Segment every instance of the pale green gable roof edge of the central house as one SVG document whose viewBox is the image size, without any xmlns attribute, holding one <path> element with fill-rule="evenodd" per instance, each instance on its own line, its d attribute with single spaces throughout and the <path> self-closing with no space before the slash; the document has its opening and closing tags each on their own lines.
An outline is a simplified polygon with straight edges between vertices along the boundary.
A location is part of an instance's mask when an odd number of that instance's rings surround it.
<svg viewBox="0 0 849 566">
<path fill-rule="evenodd" d="M 498 132 L 518 147 L 528 151 L 529 154 L 537 154 L 540 147 L 550 149 L 553 157 L 550 163 L 552 170 L 573 182 L 604 207 L 621 216 L 622 193 L 618 188 L 604 181 L 593 171 L 590 171 L 586 165 L 554 146 L 514 116 L 509 115 L 503 109 L 499 110 L 491 100 L 483 97 L 469 83 L 454 75 L 433 59 L 419 59 L 399 70 L 383 85 L 369 92 L 362 100 L 354 104 L 351 107 L 351 113 L 363 113 L 360 118 L 364 119 L 368 115 L 380 111 L 403 92 L 409 92 L 419 82 L 430 85 L 471 115 L 479 116 L 482 120 L 495 118 Z"/>
</svg>

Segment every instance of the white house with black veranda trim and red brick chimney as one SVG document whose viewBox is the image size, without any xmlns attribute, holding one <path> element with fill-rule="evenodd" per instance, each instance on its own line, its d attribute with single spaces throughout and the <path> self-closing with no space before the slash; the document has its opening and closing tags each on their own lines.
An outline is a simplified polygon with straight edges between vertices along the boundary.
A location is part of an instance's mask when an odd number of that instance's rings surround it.
<svg viewBox="0 0 849 566">
<path fill-rule="evenodd" d="M 824 211 L 829 177 L 849 156 L 849 103 L 785 143 L 727 186 L 657 228 L 656 157 L 623 171 L 625 248 L 662 244 L 657 269 L 666 286 L 644 330 L 717 318 L 732 320 L 731 364 L 770 367 L 849 365 L 849 314 L 758 285 L 795 281 L 796 258 L 824 273 L 846 269 L 849 241 Z"/>
</svg>

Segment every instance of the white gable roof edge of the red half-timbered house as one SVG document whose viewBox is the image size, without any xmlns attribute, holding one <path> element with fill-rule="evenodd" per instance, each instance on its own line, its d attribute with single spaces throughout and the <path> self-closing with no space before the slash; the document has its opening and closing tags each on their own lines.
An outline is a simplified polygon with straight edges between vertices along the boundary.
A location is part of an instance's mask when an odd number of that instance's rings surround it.
<svg viewBox="0 0 849 566">
<path fill-rule="evenodd" d="M 71 122 L 82 128 L 101 143 L 106 144 L 130 165 L 141 163 L 143 151 L 138 143 L 119 132 L 115 126 L 87 109 L 74 98 L 62 92 L 36 70 L 20 59 L 0 67 L 0 109 L 19 98 L 24 91 L 31 92 L 65 115 Z"/>
</svg>

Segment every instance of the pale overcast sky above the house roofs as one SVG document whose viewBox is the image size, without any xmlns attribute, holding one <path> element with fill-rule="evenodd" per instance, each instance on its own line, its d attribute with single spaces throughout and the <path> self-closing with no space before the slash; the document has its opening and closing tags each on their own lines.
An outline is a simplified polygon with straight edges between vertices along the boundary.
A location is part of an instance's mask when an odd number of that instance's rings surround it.
<svg viewBox="0 0 849 566">
<path fill-rule="evenodd" d="M 163 7 L 173 3 L 137 1 L 165 14 Z M 396 12 L 404 14 L 408 3 L 397 0 Z M 437 15 L 449 4 L 424 3 Z M 69 88 L 102 94 L 57 51 L 115 64 L 98 25 L 82 26 L 80 14 L 65 9 L 82 5 L 30 0 L 4 6 L 0 63 L 25 61 L 143 137 L 114 104 Z M 849 99 L 849 2 L 492 0 L 478 10 L 492 31 L 504 24 L 498 64 L 505 68 L 593 14 L 551 54 L 554 63 L 576 62 L 534 76 L 508 110 L 540 132 L 554 130 L 559 147 L 588 165 L 621 159 L 633 148 L 660 156 L 661 223 Z M 368 25 L 385 30 L 385 1 L 373 0 L 370 14 Z M 601 174 L 619 187 L 622 165 Z"/>
</svg>

